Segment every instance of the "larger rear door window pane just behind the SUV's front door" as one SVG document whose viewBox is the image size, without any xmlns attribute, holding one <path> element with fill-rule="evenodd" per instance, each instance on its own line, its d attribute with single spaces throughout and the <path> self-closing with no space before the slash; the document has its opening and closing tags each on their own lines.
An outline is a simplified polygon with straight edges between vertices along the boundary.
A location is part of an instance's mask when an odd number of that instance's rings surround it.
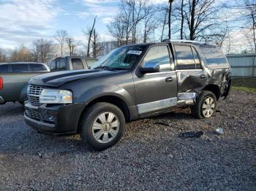
<svg viewBox="0 0 256 191">
<path fill-rule="evenodd" d="M 195 69 L 195 60 L 190 46 L 174 45 L 177 58 L 177 69 Z"/>
</svg>

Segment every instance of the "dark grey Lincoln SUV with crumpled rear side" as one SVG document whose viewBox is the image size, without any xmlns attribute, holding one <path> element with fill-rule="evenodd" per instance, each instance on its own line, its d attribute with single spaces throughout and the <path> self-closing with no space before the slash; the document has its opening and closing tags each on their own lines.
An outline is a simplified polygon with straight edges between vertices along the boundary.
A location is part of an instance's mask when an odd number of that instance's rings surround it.
<svg viewBox="0 0 256 191">
<path fill-rule="evenodd" d="M 39 132 L 80 133 L 102 150 L 121 139 L 129 120 L 180 107 L 211 117 L 230 83 L 230 65 L 215 45 L 134 44 L 113 50 L 92 70 L 31 78 L 24 117 Z"/>
</svg>

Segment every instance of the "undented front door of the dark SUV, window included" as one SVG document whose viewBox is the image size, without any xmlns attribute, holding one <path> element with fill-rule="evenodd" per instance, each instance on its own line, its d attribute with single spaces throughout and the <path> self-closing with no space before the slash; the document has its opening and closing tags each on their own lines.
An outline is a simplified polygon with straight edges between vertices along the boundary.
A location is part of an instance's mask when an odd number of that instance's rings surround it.
<svg viewBox="0 0 256 191">
<path fill-rule="evenodd" d="M 177 77 L 174 71 L 173 58 L 166 45 L 150 47 L 140 66 L 144 63 L 159 63 L 160 71 L 144 74 L 142 77 L 135 75 L 135 95 L 138 113 L 141 116 L 161 112 L 176 106 L 177 102 Z"/>
</svg>

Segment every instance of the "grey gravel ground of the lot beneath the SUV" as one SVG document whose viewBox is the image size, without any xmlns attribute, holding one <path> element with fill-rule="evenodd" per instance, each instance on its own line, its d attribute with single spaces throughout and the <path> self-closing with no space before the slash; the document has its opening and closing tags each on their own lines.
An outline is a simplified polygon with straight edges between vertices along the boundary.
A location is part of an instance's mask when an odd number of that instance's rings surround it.
<svg viewBox="0 0 256 191">
<path fill-rule="evenodd" d="M 19 104 L 0 106 L 0 190 L 256 190 L 256 94 L 233 92 L 218 110 L 129 122 L 115 147 L 93 152 L 80 136 L 32 130 Z M 178 137 L 189 130 L 204 134 Z"/>
</svg>

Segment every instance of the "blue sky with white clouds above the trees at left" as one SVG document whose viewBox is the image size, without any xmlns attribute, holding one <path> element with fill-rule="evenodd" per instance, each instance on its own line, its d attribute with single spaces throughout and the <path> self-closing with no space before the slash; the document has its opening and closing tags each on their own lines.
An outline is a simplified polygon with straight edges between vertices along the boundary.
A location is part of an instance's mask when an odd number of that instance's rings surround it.
<svg viewBox="0 0 256 191">
<path fill-rule="evenodd" d="M 160 3 L 165 0 L 151 0 Z M 53 39 L 56 30 L 67 30 L 75 39 L 97 15 L 101 38 L 110 39 L 107 24 L 118 12 L 120 0 L 0 0 L 0 47 L 29 46 L 38 38 Z"/>
</svg>

